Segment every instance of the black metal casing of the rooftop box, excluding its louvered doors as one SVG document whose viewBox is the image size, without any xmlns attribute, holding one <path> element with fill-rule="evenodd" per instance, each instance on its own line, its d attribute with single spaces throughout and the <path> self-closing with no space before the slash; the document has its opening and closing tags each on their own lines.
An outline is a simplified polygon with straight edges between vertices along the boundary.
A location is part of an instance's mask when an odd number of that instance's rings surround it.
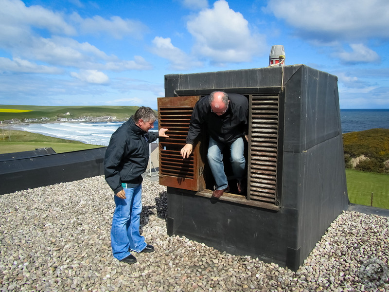
<svg viewBox="0 0 389 292">
<path fill-rule="evenodd" d="M 279 210 L 168 187 L 168 234 L 297 270 L 348 208 L 337 77 L 306 65 L 165 75 L 165 96 L 278 92 Z"/>
</svg>

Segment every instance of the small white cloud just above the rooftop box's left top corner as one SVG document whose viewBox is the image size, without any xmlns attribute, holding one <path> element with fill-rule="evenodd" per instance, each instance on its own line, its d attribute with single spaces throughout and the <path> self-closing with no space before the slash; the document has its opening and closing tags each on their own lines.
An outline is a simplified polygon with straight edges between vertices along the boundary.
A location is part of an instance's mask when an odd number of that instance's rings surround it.
<svg viewBox="0 0 389 292">
<path fill-rule="evenodd" d="M 155 37 L 152 41 L 151 52 L 170 61 L 173 70 L 188 70 L 193 67 L 201 67 L 202 63 L 193 59 L 172 44 L 170 37 Z"/>
</svg>

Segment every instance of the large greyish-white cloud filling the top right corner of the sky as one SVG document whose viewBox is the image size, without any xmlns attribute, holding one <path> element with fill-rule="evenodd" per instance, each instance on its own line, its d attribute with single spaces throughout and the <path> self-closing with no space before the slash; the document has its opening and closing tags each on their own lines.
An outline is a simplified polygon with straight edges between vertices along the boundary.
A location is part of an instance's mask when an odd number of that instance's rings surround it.
<svg viewBox="0 0 389 292">
<path fill-rule="evenodd" d="M 312 39 L 389 37 L 388 0 L 269 0 L 266 10 Z"/>
</svg>

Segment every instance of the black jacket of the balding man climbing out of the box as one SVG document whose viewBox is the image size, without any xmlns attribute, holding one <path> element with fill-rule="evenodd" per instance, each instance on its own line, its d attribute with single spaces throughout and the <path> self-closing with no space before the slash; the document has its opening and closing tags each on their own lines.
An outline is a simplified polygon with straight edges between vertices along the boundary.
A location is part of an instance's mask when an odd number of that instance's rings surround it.
<svg viewBox="0 0 389 292">
<path fill-rule="evenodd" d="M 204 128 L 213 140 L 233 143 L 248 133 L 248 99 L 236 93 L 228 93 L 230 104 L 226 113 L 218 116 L 211 111 L 209 95 L 202 97 L 192 113 L 186 143 L 194 144 Z"/>
</svg>

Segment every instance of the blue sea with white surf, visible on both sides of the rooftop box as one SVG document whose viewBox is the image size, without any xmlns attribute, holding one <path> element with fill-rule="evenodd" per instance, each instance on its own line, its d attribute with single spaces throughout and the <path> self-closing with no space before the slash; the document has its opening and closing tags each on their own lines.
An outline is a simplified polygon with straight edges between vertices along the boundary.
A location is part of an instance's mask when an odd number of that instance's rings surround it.
<svg viewBox="0 0 389 292">
<path fill-rule="evenodd" d="M 343 133 L 372 128 L 389 128 L 389 109 L 340 110 L 340 123 Z M 123 122 L 45 123 L 13 125 L 12 128 L 87 144 L 108 146 L 112 133 L 122 124 Z M 157 121 L 152 130 L 158 130 Z"/>
</svg>

